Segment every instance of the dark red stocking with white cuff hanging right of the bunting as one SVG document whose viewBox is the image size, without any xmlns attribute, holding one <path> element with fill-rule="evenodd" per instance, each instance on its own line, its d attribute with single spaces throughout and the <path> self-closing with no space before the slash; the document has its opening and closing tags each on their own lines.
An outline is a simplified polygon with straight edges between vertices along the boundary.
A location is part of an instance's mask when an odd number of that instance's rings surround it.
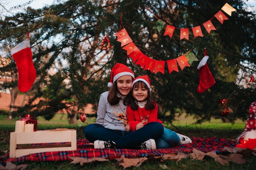
<svg viewBox="0 0 256 170">
<path fill-rule="evenodd" d="M 204 56 L 203 59 L 198 64 L 198 72 L 199 72 L 199 85 L 197 88 L 198 93 L 203 93 L 211 86 L 215 84 L 215 80 L 208 68 L 207 60 L 209 56 Z"/>
</svg>

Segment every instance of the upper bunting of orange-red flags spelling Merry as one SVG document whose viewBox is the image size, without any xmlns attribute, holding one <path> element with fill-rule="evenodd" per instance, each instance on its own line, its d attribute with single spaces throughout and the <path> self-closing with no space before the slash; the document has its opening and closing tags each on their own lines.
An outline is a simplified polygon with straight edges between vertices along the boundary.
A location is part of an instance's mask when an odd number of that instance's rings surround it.
<svg viewBox="0 0 256 170">
<path fill-rule="evenodd" d="M 146 8 L 148 11 L 150 11 L 150 9 Z M 225 13 L 227 13 L 229 16 L 231 16 L 231 13 L 236 11 L 236 9 L 234 9 L 233 7 L 231 7 L 228 3 L 226 3 L 222 8 L 222 11 L 224 11 Z M 218 13 L 216 13 L 214 15 L 214 17 L 216 17 L 216 19 L 223 24 L 224 20 L 228 20 L 227 16 L 222 12 L 219 11 Z M 150 11 L 156 18 L 157 18 L 157 22 L 155 23 L 155 26 L 153 27 L 153 29 L 156 29 L 159 33 L 162 31 L 162 29 L 164 28 L 164 26 L 166 25 L 165 31 L 164 31 L 164 36 L 168 35 L 170 38 L 172 38 L 173 33 L 175 31 L 175 26 L 171 26 L 166 24 L 164 21 L 160 20 L 152 11 Z M 212 17 L 211 20 L 214 18 Z M 204 22 L 202 25 L 200 26 L 195 26 L 192 29 L 194 38 L 195 37 L 204 37 L 202 34 L 202 30 L 201 30 L 201 26 L 204 26 L 204 28 L 206 29 L 206 31 L 210 34 L 210 32 L 212 30 L 216 30 L 215 26 L 213 26 L 213 23 L 211 22 L 211 20 L 208 20 L 207 22 Z M 189 40 L 189 28 L 178 28 L 180 29 L 180 40 L 181 39 L 187 39 Z"/>
</svg>

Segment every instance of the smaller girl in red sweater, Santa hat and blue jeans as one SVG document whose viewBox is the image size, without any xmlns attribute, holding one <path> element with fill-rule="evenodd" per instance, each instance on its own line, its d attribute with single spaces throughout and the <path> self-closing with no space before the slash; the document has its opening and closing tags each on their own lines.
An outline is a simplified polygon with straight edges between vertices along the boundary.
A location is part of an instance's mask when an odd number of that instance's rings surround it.
<svg viewBox="0 0 256 170">
<path fill-rule="evenodd" d="M 157 119 L 158 106 L 151 98 L 150 78 L 139 76 L 132 82 L 131 97 L 128 100 L 127 118 L 131 131 L 141 129 L 149 122 L 162 121 Z M 148 132 L 150 133 L 150 132 Z M 162 137 L 155 140 L 157 148 L 168 148 L 172 144 L 189 144 L 191 139 L 164 127 Z"/>
</svg>

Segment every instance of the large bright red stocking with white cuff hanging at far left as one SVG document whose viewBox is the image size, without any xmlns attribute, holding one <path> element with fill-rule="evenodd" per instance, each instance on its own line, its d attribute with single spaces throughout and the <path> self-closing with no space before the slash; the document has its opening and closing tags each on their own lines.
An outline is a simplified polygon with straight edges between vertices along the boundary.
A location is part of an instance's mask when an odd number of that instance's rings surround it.
<svg viewBox="0 0 256 170">
<path fill-rule="evenodd" d="M 32 60 L 32 52 L 29 39 L 11 49 L 11 55 L 18 70 L 18 89 L 20 92 L 27 92 L 36 79 L 36 70 Z"/>
</svg>

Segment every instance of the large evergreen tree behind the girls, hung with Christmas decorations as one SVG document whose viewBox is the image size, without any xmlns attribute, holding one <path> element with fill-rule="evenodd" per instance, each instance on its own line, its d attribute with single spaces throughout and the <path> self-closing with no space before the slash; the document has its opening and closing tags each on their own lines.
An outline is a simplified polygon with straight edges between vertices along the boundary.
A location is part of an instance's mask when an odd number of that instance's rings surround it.
<svg viewBox="0 0 256 170">
<path fill-rule="evenodd" d="M 135 76 L 148 74 L 152 80 L 153 96 L 159 105 L 159 116 L 171 122 L 175 113 L 194 115 L 198 122 L 222 118 L 234 122 L 245 120 L 250 103 L 255 99 L 255 87 L 244 88 L 238 81 L 255 72 L 255 13 L 246 10 L 243 0 L 228 1 L 236 9 L 220 24 L 213 16 L 226 1 L 222 0 L 68 0 L 43 9 L 31 9 L 6 16 L 0 20 L 2 50 L 9 51 L 30 33 L 33 61 L 37 78 L 27 95 L 29 102 L 12 112 L 32 113 L 50 120 L 63 109 L 72 112 L 76 119 L 87 103 L 97 109 L 99 95 L 108 90 L 110 70 L 116 62 L 132 68 Z M 172 38 L 158 33 L 155 23 L 162 20 L 175 26 Z M 211 20 L 216 31 L 207 31 L 202 24 Z M 203 37 L 195 37 L 191 28 L 201 26 Z M 167 61 L 191 50 L 200 61 L 204 48 L 209 52 L 207 64 L 216 84 L 199 94 L 197 65 L 168 72 L 165 62 L 164 74 L 141 69 L 122 49 L 114 35 L 126 28 L 133 43 L 146 56 Z M 180 28 L 189 28 L 189 40 L 180 40 Z M 158 38 L 154 39 L 153 34 Z M 109 35 L 112 48 L 101 50 L 101 42 Z M 9 52 L 4 56 L 12 62 L 0 68 L 0 74 L 16 75 L 16 64 Z M 56 72 L 49 74 L 49 71 Z M 243 78 L 237 79 L 242 74 Z M 17 75 L 16 75 L 17 76 Z M 248 83 L 248 80 L 247 82 Z M 4 83 L 1 89 L 17 87 L 17 80 Z M 38 104 L 34 101 L 40 100 Z M 230 114 L 221 116 L 226 99 Z M 74 123 L 74 122 L 72 122 Z"/>
</svg>

